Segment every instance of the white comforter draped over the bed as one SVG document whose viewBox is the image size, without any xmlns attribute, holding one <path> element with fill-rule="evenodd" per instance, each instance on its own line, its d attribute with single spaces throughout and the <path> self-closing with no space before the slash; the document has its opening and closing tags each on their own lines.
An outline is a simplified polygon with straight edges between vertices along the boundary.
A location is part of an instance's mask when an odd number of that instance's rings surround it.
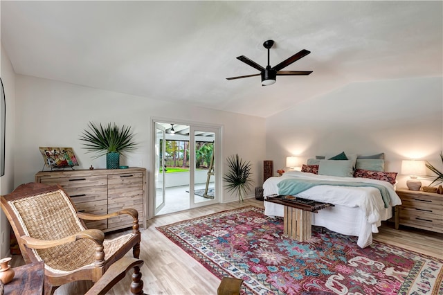
<svg viewBox="0 0 443 295">
<path fill-rule="evenodd" d="M 282 177 L 271 177 L 266 179 L 263 184 L 264 196 L 269 196 L 273 194 L 278 194 L 278 183 L 284 179 L 314 179 L 314 180 L 329 180 L 329 181 L 355 181 L 355 182 L 365 182 L 368 184 L 379 184 L 387 188 L 390 196 L 390 206 L 397 206 L 401 204 L 401 199 L 395 193 L 395 188 L 392 184 L 387 181 L 380 181 L 376 179 L 363 179 L 354 177 L 332 177 L 327 175 L 314 175 L 312 173 L 305 173 L 299 171 L 289 171 L 284 173 Z M 359 211 L 361 220 L 356 220 L 360 222 L 360 229 L 358 233 L 354 230 L 346 229 L 345 225 L 343 227 L 337 224 L 337 220 L 334 220 L 334 224 L 328 224 L 324 220 L 319 218 L 321 224 L 316 224 L 314 222 L 315 217 L 313 216 L 313 224 L 325 226 L 328 229 L 337 231 L 338 233 L 343 233 L 345 235 L 359 235 L 359 240 L 357 244 L 359 247 L 366 247 L 372 243 L 372 233 L 378 233 L 378 226 L 381 225 L 381 220 L 386 220 L 387 213 L 392 212 L 392 208 L 385 208 L 383 199 L 381 198 L 381 193 L 378 188 L 374 187 L 352 187 L 352 186 L 333 186 L 333 185 L 322 185 L 314 186 L 308 190 L 303 191 L 297 195 L 305 199 L 313 199 L 318 202 L 326 202 L 336 205 L 337 208 L 329 207 L 318 211 L 315 215 L 331 215 L 330 211 L 337 211 L 339 214 L 343 214 L 343 208 L 350 208 L 351 214 L 354 211 Z M 282 216 L 282 206 L 264 202 L 265 215 L 277 215 Z M 281 211 L 280 211 L 281 207 Z M 322 213 L 322 211 L 325 211 Z M 356 217 L 359 218 L 359 217 Z M 331 225 L 331 226 L 329 226 Z"/>
</svg>

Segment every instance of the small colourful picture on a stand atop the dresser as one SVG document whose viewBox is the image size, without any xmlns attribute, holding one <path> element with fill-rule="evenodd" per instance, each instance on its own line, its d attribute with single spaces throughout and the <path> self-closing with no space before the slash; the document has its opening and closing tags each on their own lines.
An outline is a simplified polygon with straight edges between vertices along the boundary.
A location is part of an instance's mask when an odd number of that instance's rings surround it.
<svg viewBox="0 0 443 295">
<path fill-rule="evenodd" d="M 45 166 L 52 169 L 61 169 L 78 166 L 72 147 L 39 147 Z"/>
</svg>

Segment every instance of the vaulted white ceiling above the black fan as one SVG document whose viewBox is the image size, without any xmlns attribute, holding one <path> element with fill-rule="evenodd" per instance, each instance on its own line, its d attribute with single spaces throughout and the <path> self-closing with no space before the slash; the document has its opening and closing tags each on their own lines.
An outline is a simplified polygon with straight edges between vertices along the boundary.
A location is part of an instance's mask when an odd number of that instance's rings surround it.
<svg viewBox="0 0 443 295">
<path fill-rule="evenodd" d="M 16 73 L 253 116 L 363 80 L 442 76 L 442 1 L 1 1 Z M 262 87 L 235 57 L 271 66 Z M 358 98 L 356 98 L 358 99 Z"/>
</svg>

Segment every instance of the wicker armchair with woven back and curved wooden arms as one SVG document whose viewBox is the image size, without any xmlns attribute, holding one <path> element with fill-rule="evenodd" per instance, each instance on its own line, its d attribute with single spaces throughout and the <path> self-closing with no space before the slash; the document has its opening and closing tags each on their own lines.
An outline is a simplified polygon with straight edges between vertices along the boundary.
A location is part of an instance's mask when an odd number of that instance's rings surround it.
<svg viewBox="0 0 443 295">
<path fill-rule="evenodd" d="M 37 183 L 23 184 L 9 195 L 1 196 L 1 208 L 17 237 L 25 262 L 44 261 L 45 294 L 53 294 L 60 285 L 75 280 L 96 283 L 103 277 L 100 283 L 115 284 L 132 267 L 135 271 L 131 292 L 143 294 L 139 273 L 143 261 L 134 260 L 140 254 L 141 241 L 136 210 L 126 209 L 100 216 L 78 213 L 60 186 Z M 120 214 L 134 217 L 132 233 L 110 240 L 105 239 L 102 231 L 87 229 L 80 220 L 103 220 Z M 131 249 L 134 258 L 122 259 Z M 115 273 L 115 278 L 113 274 L 105 276 L 110 267 L 112 271 L 109 272 Z"/>
</svg>

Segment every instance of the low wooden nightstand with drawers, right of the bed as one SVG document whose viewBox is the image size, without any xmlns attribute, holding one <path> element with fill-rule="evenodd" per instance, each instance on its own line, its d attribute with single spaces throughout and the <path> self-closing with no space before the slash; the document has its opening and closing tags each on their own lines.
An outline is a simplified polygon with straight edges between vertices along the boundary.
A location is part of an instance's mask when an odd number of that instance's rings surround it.
<svg viewBox="0 0 443 295">
<path fill-rule="evenodd" d="M 443 233 L 443 195 L 400 188 L 401 205 L 395 206 L 395 229 L 399 224 Z"/>
</svg>

